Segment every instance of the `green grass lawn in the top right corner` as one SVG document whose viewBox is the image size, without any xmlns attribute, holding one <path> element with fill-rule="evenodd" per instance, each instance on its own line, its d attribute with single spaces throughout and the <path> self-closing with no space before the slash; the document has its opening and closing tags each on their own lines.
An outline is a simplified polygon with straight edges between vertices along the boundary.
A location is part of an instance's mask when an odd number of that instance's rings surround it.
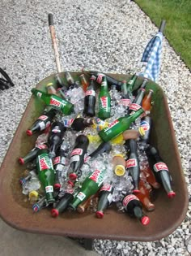
<svg viewBox="0 0 191 256">
<path fill-rule="evenodd" d="M 159 27 L 166 20 L 163 34 L 191 69 L 191 0 L 134 0 Z"/>
</svg>

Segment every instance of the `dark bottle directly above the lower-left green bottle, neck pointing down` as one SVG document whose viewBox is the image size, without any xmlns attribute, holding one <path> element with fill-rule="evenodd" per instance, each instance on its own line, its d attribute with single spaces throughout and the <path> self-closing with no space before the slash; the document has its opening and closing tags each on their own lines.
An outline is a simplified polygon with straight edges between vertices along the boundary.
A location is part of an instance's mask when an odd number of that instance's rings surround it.
<svg viewBox="0 0 191 256">
<path fill-rule="evenodd" d="M 51 125 L 48 137 L 50 158 L 54 158 L 56 156 L 57 149 L 62 143 L 64 132 L 66 132 L 66 128 L 62 122 L 56 121 Z"/>
</svg>

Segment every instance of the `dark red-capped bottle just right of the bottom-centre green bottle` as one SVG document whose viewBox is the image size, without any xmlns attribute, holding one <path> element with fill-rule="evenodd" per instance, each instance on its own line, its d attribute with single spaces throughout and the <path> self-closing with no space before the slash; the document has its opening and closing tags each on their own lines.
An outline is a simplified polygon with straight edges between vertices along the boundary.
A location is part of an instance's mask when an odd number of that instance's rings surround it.
<svg viewBox="0 0 191 256">
<path fill-rule="evenodd" d="M 96 211 L 96 216 L 99 219 L 104 217 L 104 210 L 112 203 L 112 184 L 104 184 L 98 193 L 98 206 Z"/>
</svg>

